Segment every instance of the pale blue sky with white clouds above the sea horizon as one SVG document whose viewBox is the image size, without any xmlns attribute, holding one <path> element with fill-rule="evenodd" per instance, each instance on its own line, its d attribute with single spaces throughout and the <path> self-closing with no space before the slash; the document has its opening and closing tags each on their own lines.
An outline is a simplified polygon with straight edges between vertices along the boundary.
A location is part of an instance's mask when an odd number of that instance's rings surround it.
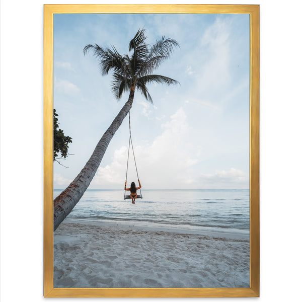
<svg viewBox="0 0 302 302">
<path fill-rule="evenodd" d="M 157 69 L 180 82 L 150 85 L 154 105 L 135 92 L 131 133 L 139 178 L 146 189 L 249 187 L 249 15 L 59 14 L 54 15 L 54 108 L 72 137 L 70 155 L 54 163 L 54 188 L 81 171 L 99 139 L 128 99 L 120 102 L 86 44 L 114 45 L 128 53 L 144 27 L 147 43 L 177 40 Z M 89 189 L 123 188 L 128 117 L 111 140 Z M 132 158 L 128 182 L 136 181 Z"/>
</svg>

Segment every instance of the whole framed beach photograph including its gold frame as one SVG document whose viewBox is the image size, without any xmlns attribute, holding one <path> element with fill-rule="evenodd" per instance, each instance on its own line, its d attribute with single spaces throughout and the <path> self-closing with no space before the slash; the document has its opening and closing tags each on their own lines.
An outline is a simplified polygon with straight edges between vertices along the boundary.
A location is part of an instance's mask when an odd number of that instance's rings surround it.
<svg viewBox="0 0 302 302">
<path fill-rule="evenodd" d="M 259 6 L 44 6 L 44 296 L 259 296 Z"/>
</svg>

